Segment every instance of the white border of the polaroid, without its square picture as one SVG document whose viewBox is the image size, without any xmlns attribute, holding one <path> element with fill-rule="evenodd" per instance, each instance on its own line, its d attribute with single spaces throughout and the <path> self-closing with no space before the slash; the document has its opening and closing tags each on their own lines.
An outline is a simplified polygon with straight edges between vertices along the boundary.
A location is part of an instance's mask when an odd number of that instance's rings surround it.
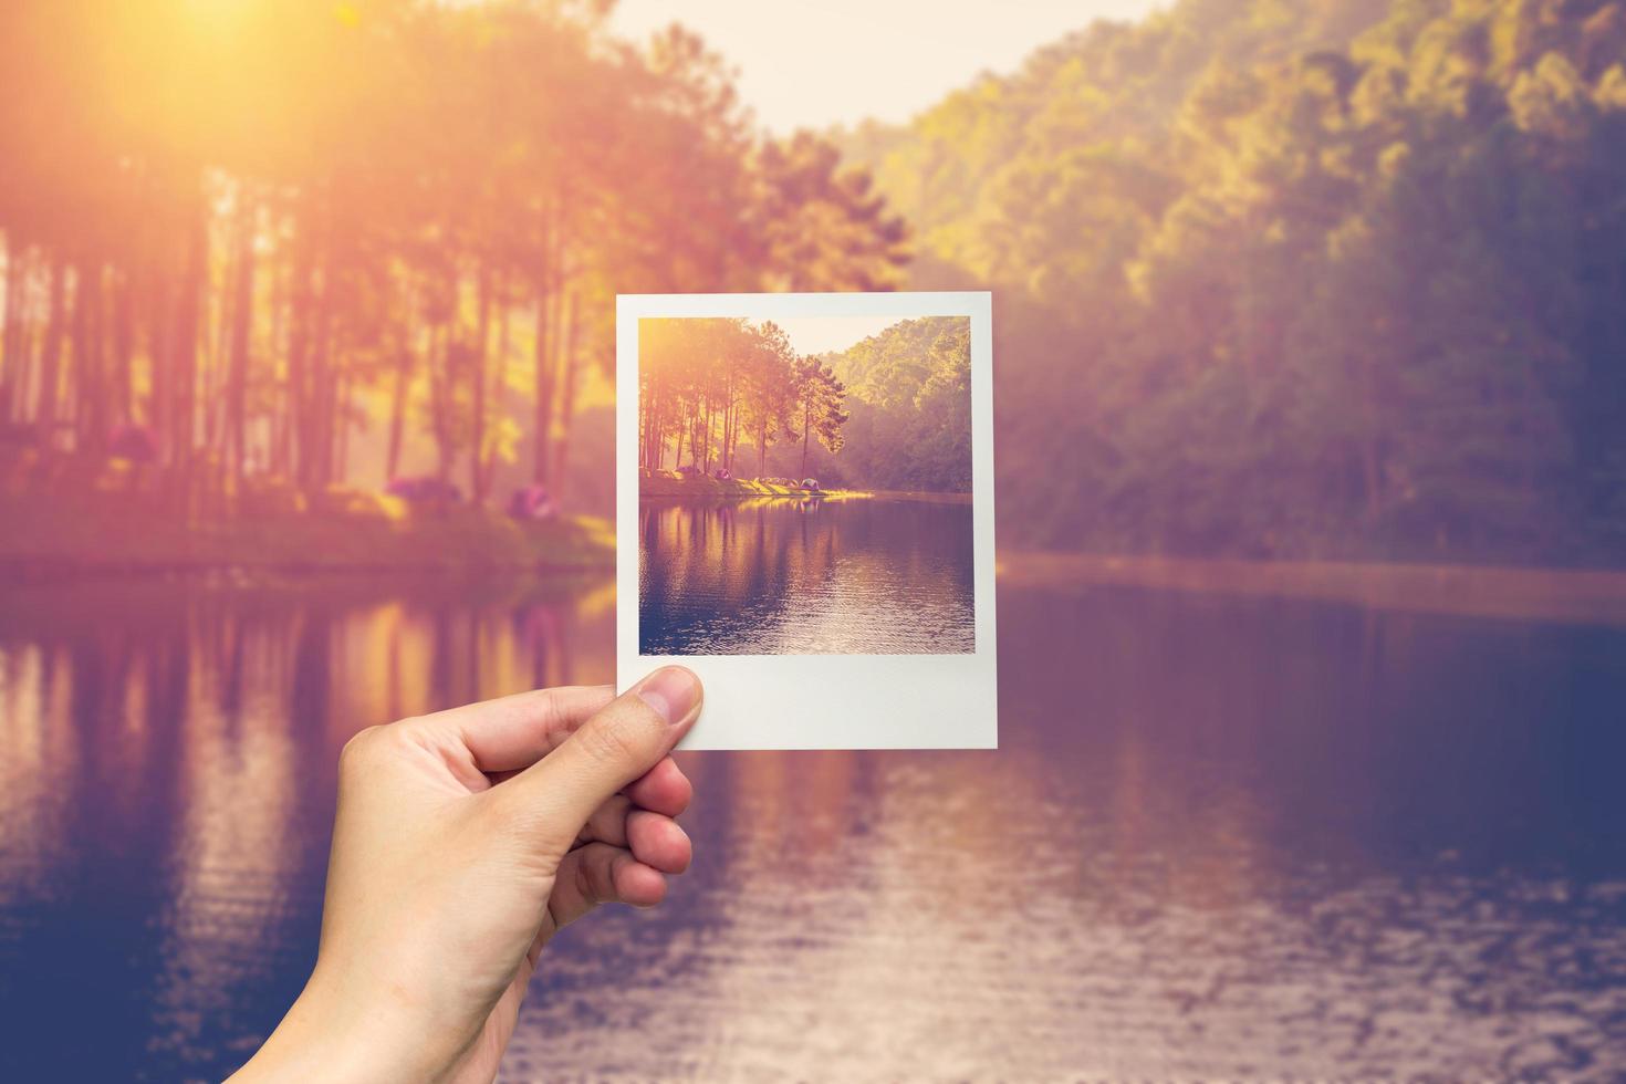
<svg viewBox="0 0 1626 1084">
<path fill-rule="evenodd" d="M 969 317 L 976 650 L 969 655 L 641 655 L 637 322 Z M 616 296 L 616 678 L 676 663 L 706 686 L 683 749 L 993 749 L 993 299 L 985 291 Z"/>
</svg>

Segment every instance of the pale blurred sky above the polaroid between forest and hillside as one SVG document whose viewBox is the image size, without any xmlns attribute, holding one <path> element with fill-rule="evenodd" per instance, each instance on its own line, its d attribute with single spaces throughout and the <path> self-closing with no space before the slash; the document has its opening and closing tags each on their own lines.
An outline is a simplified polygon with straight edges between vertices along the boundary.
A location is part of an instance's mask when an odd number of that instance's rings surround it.
<svg viewBox="0 0 1626 1084">
<path fill-rule="evenodd" d="M 1023 59 L 1098 18 L 1135 20 L 1154 0 L 618 0 L 611 24 L 644 37 L 699 33 L 740 72 L 740 96 L 777 135 L 909 120 L 980 72 Z"/>
</svg>

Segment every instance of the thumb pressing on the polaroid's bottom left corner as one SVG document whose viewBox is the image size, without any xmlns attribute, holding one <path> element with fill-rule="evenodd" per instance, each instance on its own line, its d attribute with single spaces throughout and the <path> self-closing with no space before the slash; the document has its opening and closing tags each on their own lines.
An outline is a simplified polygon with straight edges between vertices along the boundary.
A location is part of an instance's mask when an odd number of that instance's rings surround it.
<svg viewBox="0 0 1626 1084">
<path fill-rule="evenodd" d="M 699 678 L 662 666 L 496 790 L 537 826 L 537 843 L 563 855 L 605 798 L 660 764 L 699 712 Z"/>
</svg>

